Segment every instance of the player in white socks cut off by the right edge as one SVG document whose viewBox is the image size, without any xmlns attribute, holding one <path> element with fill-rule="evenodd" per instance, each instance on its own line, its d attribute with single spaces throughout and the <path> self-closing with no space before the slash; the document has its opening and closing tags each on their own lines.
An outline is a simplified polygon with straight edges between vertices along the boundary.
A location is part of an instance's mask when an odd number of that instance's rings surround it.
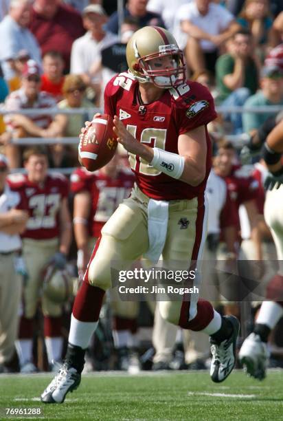
<svg viewBox="0 0 283 421">
<path fill-rule="evenodd" d="M 247 374 L 259 380 L 265 377 L 267 368 L 269 334 L 283 316 L 283 120 L 269 133 L 262 150 L 270 171 L 264 183 L 268 190 L 264 218 L 275 243 L 279 271 L 267 285 L 269 301 L 262 303 L 253 332 L 245 339 L 239 353 Z"/>
</svg>

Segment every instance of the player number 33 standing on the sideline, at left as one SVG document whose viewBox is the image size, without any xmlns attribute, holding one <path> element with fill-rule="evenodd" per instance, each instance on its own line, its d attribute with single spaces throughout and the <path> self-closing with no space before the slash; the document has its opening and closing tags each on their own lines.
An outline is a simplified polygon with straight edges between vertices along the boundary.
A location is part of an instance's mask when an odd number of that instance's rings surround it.
<svg viewBox="0 0 283 421">
<path fill-rule="evenodd" d="M 36 371 L 32 362 L 33 322 L 43 287 L 43 269 L 48 263 L 64 268 L 71 243 L 71 218 L 67 204 L 69 184 L 65 176 L 47 173 L 45 149 L 32 147 L 24 152 L 27 174 L 10 176 L 12 188 L 27 199 L 29 219 L 23 233 L 23 257 L 27 281 L 23 289 L 23 309 L 17 351 L 22 372 Z M 50 367 L 60 360 L 62 306 L 42 296 L 44 336 Z"/>
</svg>

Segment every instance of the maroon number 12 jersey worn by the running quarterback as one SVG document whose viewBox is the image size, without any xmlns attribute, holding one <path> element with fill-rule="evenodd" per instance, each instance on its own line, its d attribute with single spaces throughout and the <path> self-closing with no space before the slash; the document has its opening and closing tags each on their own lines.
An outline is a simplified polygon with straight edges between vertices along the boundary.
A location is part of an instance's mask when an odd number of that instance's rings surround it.
<svg viewBox="0 0 283 421">
<path fill-rule="evenodd" d="M 199 83 L 189 82 L 164 90 L 159 100 L 142 105 L 139 84 L 125 72 L 113 77 L 104 91 L 104 111 L 117 115 L 126 129 L 149 147 L 178 153 L 179 135 L 207 125 L 216 118 L 210 92 Z M 199 186 L 190 186 L 159 172 L 138 155 L 129 154 L 137 186 L 152 199 L 203 199 L 205 184 L 211 168 L 211 142 L 206 132 L 207 155 L 205 179 Z"/>
</svg>

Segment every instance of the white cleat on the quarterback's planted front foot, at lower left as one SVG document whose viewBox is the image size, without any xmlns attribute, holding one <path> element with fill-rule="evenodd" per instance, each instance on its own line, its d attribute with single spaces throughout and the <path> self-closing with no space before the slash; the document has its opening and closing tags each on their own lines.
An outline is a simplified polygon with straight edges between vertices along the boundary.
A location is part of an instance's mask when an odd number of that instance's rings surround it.
<svg viewBox="0 0 283 421">
<path fill-rule="evenodd" d="M 65 362 L 41 395 L 41 402 L 63 403 L 68 392 L 78 388 L 81 375 Z"/>
</svg>

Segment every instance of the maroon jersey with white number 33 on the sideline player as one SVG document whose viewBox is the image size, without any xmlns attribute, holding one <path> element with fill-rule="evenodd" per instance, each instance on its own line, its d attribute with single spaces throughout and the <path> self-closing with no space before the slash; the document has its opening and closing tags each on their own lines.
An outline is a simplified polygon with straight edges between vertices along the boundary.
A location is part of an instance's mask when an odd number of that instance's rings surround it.
<svg viewBox="0 0 283 421">
<path fill-rule="evenodd" d="M 30 217 L 23 238 L 52 239 L 59 236 L 59 210 L 64 197 L 69 194 L 69 183 L 64 175 L 47 175 L 43 184 L 30 182 L 27 175 L 8 176 L 10 187 L 19 191 L 27 202 Z"/>
</svg>

